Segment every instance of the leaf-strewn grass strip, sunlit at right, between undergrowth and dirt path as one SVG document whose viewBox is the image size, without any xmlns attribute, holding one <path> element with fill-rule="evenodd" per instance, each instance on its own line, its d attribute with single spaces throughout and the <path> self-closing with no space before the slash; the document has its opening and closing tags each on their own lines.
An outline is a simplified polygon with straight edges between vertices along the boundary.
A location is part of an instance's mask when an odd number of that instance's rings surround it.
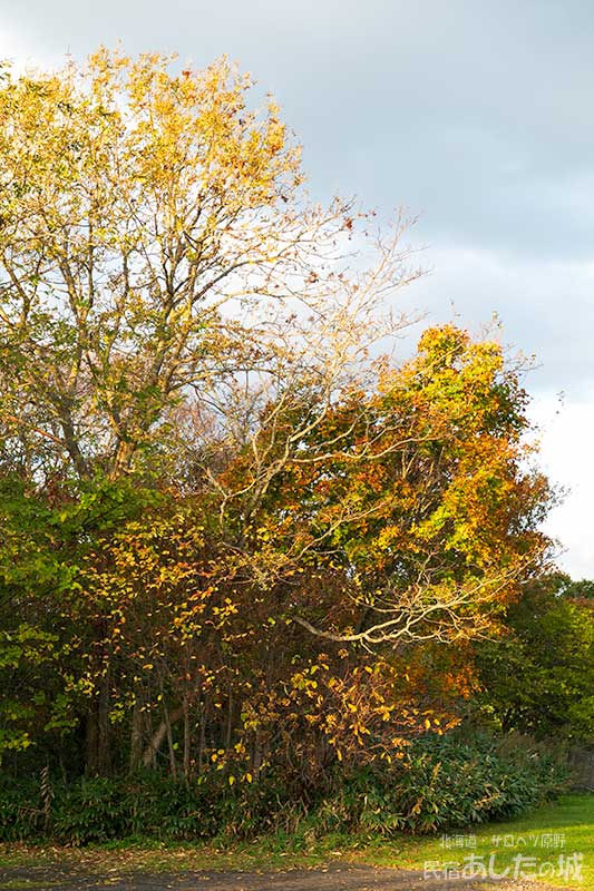
<svg viewBox="0 0 594 891">
<path fill-rule="evenodd" d="M 575 877 L 575 855 L 582 858 Z M 199 869 L 277 870 L 348 861 L 423 870 L 460 868 L 475 862 L 508 879 L 535 878 L 563 888 L 594 891 L 594 794 L 564 795 L 508 823 L 455 830 L 444 836 L 398 835 L 392 840 L 331 835 L 314 839 L 304 826 L 293 836 L 274 835 L 233 844 L 110 843 L 81 850 L 18 844 L 0 845 L 0 868 L 71 864 L 89 873 L 107 870 L 181 872 Z M 522 856 L 522 860 L 518 858 Z M 572 856 L 574 860 L 572 860 Z M 491 860 L 493 858 L 493 860 Z M 547 864 L 552 864 L 548 866 Z M 572 864 L 574 870 L 572 874 Z M 519 870 L 519 877 L 514 875 Z M 567 870 L 567 871 L 565 871 Z"/>
</svg>

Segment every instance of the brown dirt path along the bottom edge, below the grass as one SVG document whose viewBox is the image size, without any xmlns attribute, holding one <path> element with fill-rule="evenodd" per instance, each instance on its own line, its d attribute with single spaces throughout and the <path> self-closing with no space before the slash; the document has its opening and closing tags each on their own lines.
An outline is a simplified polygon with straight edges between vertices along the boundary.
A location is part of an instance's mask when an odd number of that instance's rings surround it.
<svg viewBox="0 0 594 891">
<path fill-rule="evenodd" d="M 128 874 L 110 870 L 89 875 L 71 866 L 14 868 L 0 870 L 0 891 L 478 891 L 485 880 L 426 879 L 422 872 L 373 866 L 333 864 L 315 870 L 286 872 L 191 872 Z M 502 891 L 534 889 L 532 882 L 493 885 Z M 542 884 L 538 891 L 546 891 Z M 555 889 L 555 891 L 559 891 Z"/>
</svg>

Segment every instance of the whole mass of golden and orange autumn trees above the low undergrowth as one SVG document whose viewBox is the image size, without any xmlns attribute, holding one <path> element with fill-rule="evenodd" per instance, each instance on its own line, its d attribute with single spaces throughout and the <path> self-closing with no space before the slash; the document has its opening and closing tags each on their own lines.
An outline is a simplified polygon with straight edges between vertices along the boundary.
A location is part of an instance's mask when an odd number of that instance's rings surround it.
<svg viewBox="0 0 594 891">
<path fill-rule="evenodd" d="M 549 493 L 495 340 L 384 355 L 405 222 L 169 61 L 0 88 L 0 751 L 306 795 L 457 722 Z"/>
</svg>

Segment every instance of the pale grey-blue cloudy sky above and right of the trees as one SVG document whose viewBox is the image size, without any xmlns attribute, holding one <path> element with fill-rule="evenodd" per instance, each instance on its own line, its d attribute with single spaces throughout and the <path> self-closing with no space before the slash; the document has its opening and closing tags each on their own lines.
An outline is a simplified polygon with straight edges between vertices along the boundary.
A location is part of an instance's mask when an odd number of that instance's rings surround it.
<svg viewBox="0 0 594 891">
<path fill-rule="evenodd" d="M 271 90 L 310 190 L 405 205 L 432 270 L 429 321 L 535 354 L 547 530 L 594 578 L 594 4 L 584 0 L 0 0 L 0 57 L 53 65 L 99 42 L 227 53 Z M 558 393 L 563 392 L 559 403 Z"/>
</svg>

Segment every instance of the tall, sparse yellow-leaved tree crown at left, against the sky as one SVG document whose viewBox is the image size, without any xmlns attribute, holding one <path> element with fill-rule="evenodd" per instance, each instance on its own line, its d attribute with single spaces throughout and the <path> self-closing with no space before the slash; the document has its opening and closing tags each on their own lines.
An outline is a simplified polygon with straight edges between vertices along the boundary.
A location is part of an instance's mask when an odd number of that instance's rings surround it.
<svg viewBox="0 0 594 891">
<path fill-rule="evenodd" d="M 171 61 L 101 49 L 82 71 L 4 68 L 0 425 L 4 463 L 29 478 L 137 468 L 189 392 L 205 404 L 281 363 L 300 306 L 323 320 L 318 364 L 339 375 L 378 334 L 379 296 L 416 274 L 397 225 L 371 272 L 349 275 L 364 215 L 304 200 L 274 101 L 250 110 L 251 78 L 225 59 Z"/>
</svg>

